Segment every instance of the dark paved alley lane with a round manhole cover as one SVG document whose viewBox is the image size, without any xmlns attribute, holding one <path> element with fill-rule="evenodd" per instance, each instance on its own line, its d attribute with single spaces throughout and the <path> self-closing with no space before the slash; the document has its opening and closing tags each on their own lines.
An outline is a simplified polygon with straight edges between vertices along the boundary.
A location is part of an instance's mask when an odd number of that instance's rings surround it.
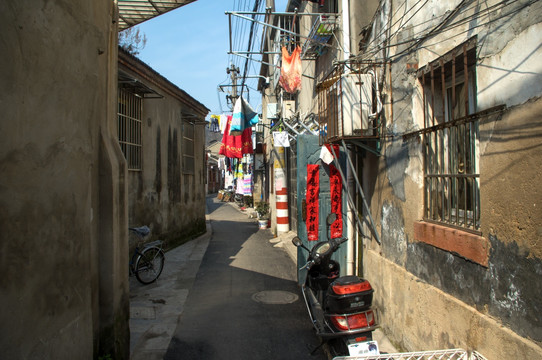
<svg viewBox="0 0 542 360">
<path fill-rule="evenodd" d="M 164 359 L 325 359 L 292 259 L 232 205 L 208 201 L 213 234 Z"/>
</svg>

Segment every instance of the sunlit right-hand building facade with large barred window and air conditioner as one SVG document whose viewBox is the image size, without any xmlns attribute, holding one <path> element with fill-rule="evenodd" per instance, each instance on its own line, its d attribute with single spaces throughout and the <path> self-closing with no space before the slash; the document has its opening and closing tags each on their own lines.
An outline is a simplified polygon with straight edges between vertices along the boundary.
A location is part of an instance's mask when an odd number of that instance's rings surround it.
<svg viewBox="0 0 542 360">
<path fill-rule="evenodd" d="M 289 2 L 302 86 L 262 66 L 263 118 L 293 101 L 290 125 L 316 117 L 320 144 L 348 153 L 344 268 L 399 349 L 540 357 L 541 3 L 323 3 Z"/>
</svg>

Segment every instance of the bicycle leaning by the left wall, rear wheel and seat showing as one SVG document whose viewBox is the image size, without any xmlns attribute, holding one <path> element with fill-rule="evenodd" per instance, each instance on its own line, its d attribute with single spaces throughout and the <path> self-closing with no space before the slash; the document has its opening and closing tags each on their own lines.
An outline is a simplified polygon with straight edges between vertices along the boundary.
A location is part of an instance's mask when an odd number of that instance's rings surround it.
<svg viewBox="0 0 542 360">
<path fill-rule="evenodd" d="M 140 240 L 150 234 L 147 226 L 128 228 Z M 134 249 L 130 259 L 130 276 L 135 275 L 142 284 L 155 282 L 164 269 L 165 255 L 162 251 L 162 240 L 156 240 Z"/>
</svg>

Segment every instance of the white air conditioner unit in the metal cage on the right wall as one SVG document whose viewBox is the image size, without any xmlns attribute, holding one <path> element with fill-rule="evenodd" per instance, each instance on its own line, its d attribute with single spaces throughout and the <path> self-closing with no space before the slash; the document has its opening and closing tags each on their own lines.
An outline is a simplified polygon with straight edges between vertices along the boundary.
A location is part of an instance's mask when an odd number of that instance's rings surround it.
<svg viewBox="0 0 542 360">
<path fill-rule="evenodd" d="M 362 135 L 369 129 L 369 114 L 373 109 L 373 77 L 370 74 L 342 75 L 341 90 L 342 135 Z"/>
</svg>

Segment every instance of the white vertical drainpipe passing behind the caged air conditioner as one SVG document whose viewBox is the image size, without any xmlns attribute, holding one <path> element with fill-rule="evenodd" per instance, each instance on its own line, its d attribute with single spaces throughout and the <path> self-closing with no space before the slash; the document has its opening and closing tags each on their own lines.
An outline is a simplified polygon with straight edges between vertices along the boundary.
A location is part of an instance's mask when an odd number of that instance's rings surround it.
<svg viewBox="0 0 542 360">
<path fill-rule="evenodd" d="M 350 58 L 350 2 L 349 0 L 342 0 L 341 2 L 341 9 L 342 9 L 342 20 L 343 20 L 343 60 L 348 60 Z M 344 149 L 344 151 L 350 151 L 348 149 Z M 352 157 L 353 153 L 350 152 L 350 156 Z M 352 171 L 355 171 L 355 169 L 350 169 L 347 166 L 347 173 L 346 173 L 346 184 L 348 186 L 348 192 L 350 194 L 354 194 L 354 177 L 352 176 Z M 355 228 L 356 225 L 354 223 L 354 216 L 357 216 L 354 212 L 356 211 L 355 207 L 352 207 L 350 204 L 350 201 L 347 202 L 347 226 L 346 226 L 346 236 L 348 237 L 347 242 L 347 254 L 346 254 L 346 274 L 347 275 L 355 275 L 355 257 L 354 257 L 354 251 L 355 251 L 355 243 L 357 242 L 356 239 L 356 232 Z"/>
</svg>

